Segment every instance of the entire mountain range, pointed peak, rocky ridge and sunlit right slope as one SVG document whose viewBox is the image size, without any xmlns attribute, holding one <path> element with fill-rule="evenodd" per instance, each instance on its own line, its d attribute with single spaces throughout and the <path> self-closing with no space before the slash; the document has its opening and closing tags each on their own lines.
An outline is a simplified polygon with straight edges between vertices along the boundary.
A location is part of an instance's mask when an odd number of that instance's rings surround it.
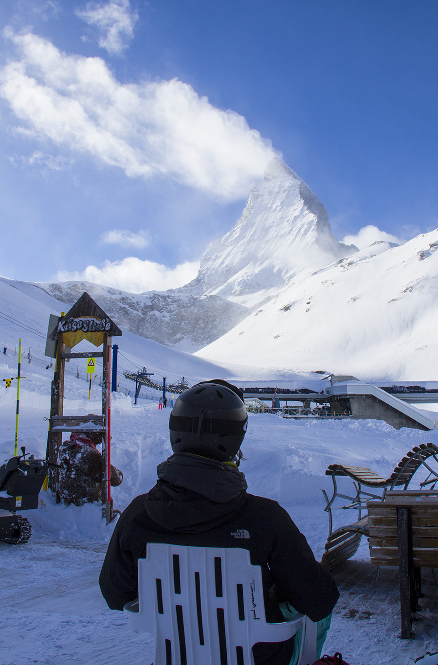
<svg viewBox="0 0 438 665">
<path fill-rule="evenodd" d="M 220 363 L 426 380 L 438 378 L 437 247 L 438 229 L 401 247 L 339 243 L 324 205 L 276 158 L 184 287 L 39 287 L 66 307 L 87 290 L 125 330 Z"/>
</svg>

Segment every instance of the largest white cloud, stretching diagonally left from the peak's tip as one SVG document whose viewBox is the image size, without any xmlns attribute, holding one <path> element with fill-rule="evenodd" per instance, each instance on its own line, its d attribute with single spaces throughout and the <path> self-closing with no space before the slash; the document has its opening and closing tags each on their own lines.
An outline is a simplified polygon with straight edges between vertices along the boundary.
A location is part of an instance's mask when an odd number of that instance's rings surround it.
<svg viewBox="0 0 438 665">
<path fill-rule="evenodd" d="M 32 33 L 6 34 L 21 57 L 0 72 L 0 94 L 43 140 L 224 201 L 247 196 L 276 154 L 245 118 L 177 79 L 120 84 L 101 58 L 67 55 Z"/>
</svg>

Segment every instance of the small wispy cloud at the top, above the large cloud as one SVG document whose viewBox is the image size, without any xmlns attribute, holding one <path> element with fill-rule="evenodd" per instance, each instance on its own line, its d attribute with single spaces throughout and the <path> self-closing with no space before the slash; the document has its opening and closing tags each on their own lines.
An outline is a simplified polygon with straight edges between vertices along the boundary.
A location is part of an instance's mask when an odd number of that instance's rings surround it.
<svg viewBox="0 0 438 665">
<path fill-rule="evenodd" d="M 75 14 L 89 25 L 95 25 L 101 37 L 99 46 L 108 53 L 120 54 L 134 37 L 138 14 L 132 11 L 129 0 L 89 2 L 85 9 L 75 9 Z"/>
</svg>

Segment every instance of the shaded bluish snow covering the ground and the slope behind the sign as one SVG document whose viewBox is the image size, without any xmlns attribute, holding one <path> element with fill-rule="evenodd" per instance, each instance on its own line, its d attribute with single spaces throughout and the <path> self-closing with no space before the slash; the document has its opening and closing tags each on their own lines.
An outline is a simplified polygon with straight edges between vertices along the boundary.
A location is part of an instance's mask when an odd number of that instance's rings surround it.
<svg viewBox="0 0 438 665">
<path fill-rule="evenodd" d="M 25 349 L 31 346 L 31 363 L 25 355 L 22 374 L 27 378 L 22 382 L 19 446 L 44 456 L 44 418 L 49 415 L 53 369 L 46 369 L 49 359 L 41 347 L 48 315 L 59 311 L 59 303 L 49 296 L 37 302 L 33 295 L 5 282 L 0 282 L 0 295 L 0 342 L 8 349 L 6 356 L 0 356 L 0 378 L 16 375 L 17 356 L 13 352 L 18 336 L 22 336 Z M 117 341 L 120 362 L 126 368 L 146 364 L 158 377 L 184 375 L 190 383 L 213 376 L 250 382 L 260 378 L 271 384 L 283 378 L 295 387 L 312 385 L 310 375 L 210 364 L 134 334 L 124 333 Z M 73 362 L 67 365 L 65 413 L 99 412 L 101 388 L 95 381 L 89 401 L 85 361 L 79 366 L 79 378 L 77 366 Z M 320 378 L 316 381 L 322 386 Z M 124 395 L 125 388 L 132 391 L 132 386 L 120 378 L 120 392 L 112 398 L 112 463 L 124 473 L 120 487 L 112 489 L 119 509 L 154 484 L 157 464 L 170 454 L 169 410 L 159 411 L 156 401 L 150 400 L 158 393 L 144 389 L 138 406 L 134 406 L 132 396 Z M 14 428 L 15 387 L 0 388 L 0 460 L 13 453 Z M 328 531 L 320 489 L 331 489 L 331 481 L 324 475 L 328 464 L 361 464 L 387 475 L 407 450 L 429 441 L 438 444 L 438 432 L 397 432 L 375 421 L 296 421 L 250 414 L 243 447 L 246 461 L 241 469 L 249 491 L 279 501 L 320 559 Z M 105 526 L 97 504 L 56 505 L 44 492 L 40 498 L 39 509 L 23 513 L 33 527 L 29 543 L 19 547 L 0 543 L 0 665 L 149 665 L 152 638 L 132 632 L 123 614 L 110 611 L 97 584 L 114 524 Z M 337 523 L 341 521 L 347 521 L 344 511 L 337 516 Z M 427 650 L 438 650 L 436 589 L 425 585 L 427 604 L 422 602 L 425 609 L 420 612 L 425 619 L 415 627 L 415 640 L 399 640 L 396 575 L 394 578 L 391 569 L 382 571 L 377 587 L 372 587 L 373 573 L 363 540 L 353 561 L 335 571 L 341 598 L 325 650 L 332 654 L 341 651 L 351 665 L 408 665 Z"/>
</svg>

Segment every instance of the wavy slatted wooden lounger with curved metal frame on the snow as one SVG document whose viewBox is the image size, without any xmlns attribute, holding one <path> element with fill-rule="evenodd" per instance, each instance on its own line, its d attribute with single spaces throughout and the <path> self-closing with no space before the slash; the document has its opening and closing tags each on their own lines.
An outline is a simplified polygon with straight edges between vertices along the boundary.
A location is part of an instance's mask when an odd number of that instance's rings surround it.
<svg viewBox="0 0 438 665">
<path fill-rule="evenodd" d="M 435 465 L 435 469 L 431 466 Z M 394 487 L 403 486 L 407 489 L 414 473 L 424 467 L 427 471 L 425 480 L 420 483 L 420 487 L 429 487 L 433 489 L 438 482 L 438 448 L 435 444 L 421 444 L 410 450 L 405 457 L 397 464 L 388 478 L 375 473 L 368 467 L 351 466 L 349 464 L 330 464 L 326 475 L 333 481 L 333 494 L 328 498 L 326 491 L 322 493 L 326 499 L 325 511 L 329 517 L 328 539 L 322 557 L 321 563 L 332 570 L 343 561 L 347 561 L 355 554 L 359 547 L 362 535 L 368 535 L 366 520 L 366 505 L 370 499 L 380 501 L 385 497 L 387 490 L 393 490 Z M 351 478 L 355 493 L 352 495 L 342 494 L 337 489 L 336 477 L 346 476 Z M 363 487 L 371 489 L 366 491 Z M 340 529 L 333 531 L 332 511 L 337 509 L 333 507 L 335 499 L 346 499 L 349 503 L 341 506 L 341 510 L 357 510 L 357 521 L 345 525 Z M 365 515 L 362 513 L 365 512 Z"/>
</svg>

